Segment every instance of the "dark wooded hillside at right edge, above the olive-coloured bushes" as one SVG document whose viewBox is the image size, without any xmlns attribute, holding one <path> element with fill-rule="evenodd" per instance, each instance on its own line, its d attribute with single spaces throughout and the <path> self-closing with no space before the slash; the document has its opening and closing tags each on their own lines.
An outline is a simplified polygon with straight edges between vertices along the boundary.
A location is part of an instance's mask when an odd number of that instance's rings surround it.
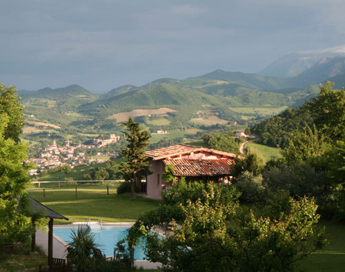
<svg viewBox="0 0 345 272">
<path fill-rule="evenodd" d="M 345 135 L 345 89 L 333 89 L 331 82 L 322 86 L 317 98 L 311 99 L 299 108 L 253 126 L 251 131 L 259 135 L 262 144 L 285 148 L 288 140 L 297 132 L 315 126 L 322 137 L 344 140 Z"/>
</svg>

